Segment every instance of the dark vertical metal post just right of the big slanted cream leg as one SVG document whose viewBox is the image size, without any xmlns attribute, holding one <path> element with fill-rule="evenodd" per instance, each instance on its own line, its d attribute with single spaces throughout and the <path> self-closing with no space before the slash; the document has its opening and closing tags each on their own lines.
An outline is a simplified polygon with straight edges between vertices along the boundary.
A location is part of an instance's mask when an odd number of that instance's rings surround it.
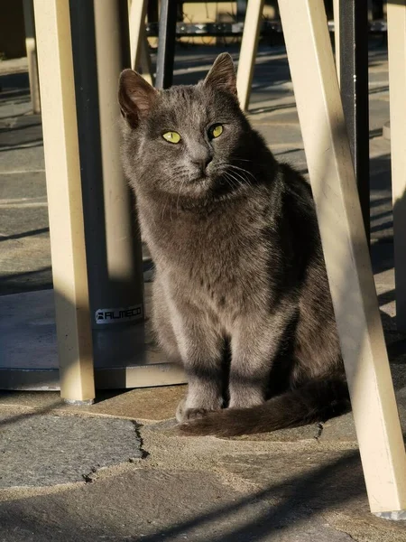
<svg viewBox="0 0 406 542">
<path fill-rule="evenodd" d="M 340 85 L 366 238 L 369 241 L 368 2 L 340 2 Z"/>
</svg>

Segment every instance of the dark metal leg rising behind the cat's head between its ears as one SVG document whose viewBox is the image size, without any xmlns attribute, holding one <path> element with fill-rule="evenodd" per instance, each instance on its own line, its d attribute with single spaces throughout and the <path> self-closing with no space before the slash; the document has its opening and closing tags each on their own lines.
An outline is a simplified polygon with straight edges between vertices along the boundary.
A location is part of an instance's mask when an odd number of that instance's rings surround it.
<svg viewBox="0 0 406 542">
<path fill-rule="evenodd" d="M 176 0 L 161 0 L 160 31 L 155 79 L 155 87 L 157 89 L 168 89 L 172 84 L 177 14 L 178 3 Z"/>
</svg>

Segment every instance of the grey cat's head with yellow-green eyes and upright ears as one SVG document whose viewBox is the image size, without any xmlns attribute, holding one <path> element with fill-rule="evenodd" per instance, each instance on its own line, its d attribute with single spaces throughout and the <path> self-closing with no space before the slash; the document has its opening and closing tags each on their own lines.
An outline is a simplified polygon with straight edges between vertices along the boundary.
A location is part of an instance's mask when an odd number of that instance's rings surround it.
<svg viewBox="0 0 406 542">
<path fill-rule="evenodd" d="M 125 173 L 136 189 L 200 199 L 250 182 L 251 127 L 238 105 L 229 54 L 194 86 L 158 91 L 124 70 L 118 97 Z"/>
</svg>

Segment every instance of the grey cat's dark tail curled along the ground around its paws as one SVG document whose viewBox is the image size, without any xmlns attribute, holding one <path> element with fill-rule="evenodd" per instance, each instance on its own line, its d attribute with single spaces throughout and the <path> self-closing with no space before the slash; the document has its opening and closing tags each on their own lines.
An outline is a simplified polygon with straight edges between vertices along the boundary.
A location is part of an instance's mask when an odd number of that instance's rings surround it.
<svg viewBox="0 0 406 542">
<path fill-rule="evenodd" d="M 349 409 L 345 379 L 310 381 L 263 405 L 226 408 L 179 425 L 182 435 L 237 436 L 322 422 Z"/>
</svg>

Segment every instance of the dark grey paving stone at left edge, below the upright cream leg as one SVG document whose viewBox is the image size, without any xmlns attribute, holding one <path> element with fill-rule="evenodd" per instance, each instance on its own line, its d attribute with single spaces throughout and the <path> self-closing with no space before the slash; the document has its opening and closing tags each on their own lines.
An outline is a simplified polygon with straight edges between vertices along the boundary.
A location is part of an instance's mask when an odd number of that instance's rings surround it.
<svg viewBox="0 0 406 542">
<path fill-rule="evenodd" d="M 2 413 L 0 435 L 0 489 L 84 481 L 142 457 L 129 420 Z"/>
</svg>

